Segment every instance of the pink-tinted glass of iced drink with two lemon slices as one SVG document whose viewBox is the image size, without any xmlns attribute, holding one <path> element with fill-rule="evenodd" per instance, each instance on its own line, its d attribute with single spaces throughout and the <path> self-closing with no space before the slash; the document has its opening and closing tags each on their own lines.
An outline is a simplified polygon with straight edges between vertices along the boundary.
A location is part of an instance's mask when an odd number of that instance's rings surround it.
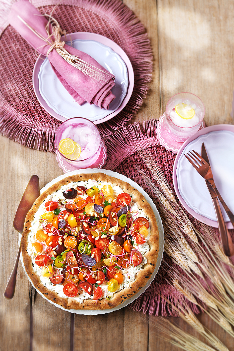
<svg viewBox="0 0 234 351">
<path fill-rule="evenodd" d="M 73 153 L 64 154 L 60 151 L 59 145 L 63 139 L 72 139 L 75 142 L 76 147 Z M 56 131 L 55 145 L 66 162 L 77 168 L 86 168 L 99 158 L 101 151 L 100 133 L 95 124 L 88 119 L 70 118 L 63 122 Z M 78 158 L 76 158 L 77 155 L 79 155 Z"/>
</svg>

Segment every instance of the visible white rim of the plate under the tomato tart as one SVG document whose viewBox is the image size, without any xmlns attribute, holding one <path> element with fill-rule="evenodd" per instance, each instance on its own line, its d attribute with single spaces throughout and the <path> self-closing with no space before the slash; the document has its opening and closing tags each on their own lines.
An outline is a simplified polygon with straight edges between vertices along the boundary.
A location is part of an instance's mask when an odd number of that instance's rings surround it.
<svg viewBox="0 0 234 351">
<path fill-rule="evenodd" d="M 46 186 L 44 186 L 44 188 L 41 189 L 41 193 L 44 192 L 47 188 L 49 188 L 50 186 L 52 186 L 54 183 L 58 182 L 59 180 L 63 179 L 63 178 L 66 178 L 68 176 L 73 176 L 74 174 L 79 174 L 79 173 L 97 173 L 97 172 L 100 172 L 100 169 L 98 168 L 86 168 L 85 170 L 78 170 L 78 171 L 72 171 L 72 172 L 69 172 L 69 173 L 66 173 L 66 174 L 63 174 L 62 176 L 59 176 L 58 178 L 55 178 L 53 179 L 50 183 L 48 183 Z M 148 282 L 146 283 L 145 286 L 142 287 L 142 289 L 136 293 L 133 297 L 125 300 L 121 305 L 119 306 L 116 306 L 112 309 L 109 309 L 109 310 L 66 310 L 64 309 L 62 306 L 59 306 L 57 304 L 55 304 L 54 302 L 48 300 L 44 294 L 42 294 L 38 289 L 35 288 L 35 286 L 33 285 L 30 277 L 28 276 L 28 274 L 26 273 L 25 271 L 25 274 L 26 276 L 28 277 L 28 280 L 32 283 L 34 289 L 36 289 L 36 291 L 42 296 L 44 297 L 49 303 L 53 304 L 54 306 L 56 307 L 59 307 L 61 308 L 62 310 L 64 311 L 68 311 L 68 312 L 71 312 L 71 313 L 76 313 L 76 314 L 85 314 L 85 315 L 96 315 L 96 314 L 105 314 L 105 313 L 109 313 L 109 312 L 113 312 L 113 311 L 117 311 L 117 310 L 120 310 L 121 308 L 123 307 L 126 307 L 128 304 L 132 303 L 135 299 L 137 299 L 146 289 L 147 287 L 149 287 L 149 285 L 153 282 L 156 274 L 158 273 L 158 270 L 159 270 L 159 267 L 161 265 L 161 261 L 162 261 L 162 255 L 163 255 L 163 251 L 164 251 L 164 231 L 163 231 L 163 226 L 162 226 L 162 220 L 160 218 L 160 215 L 159 215 L 159 212 L 156 208 L 156 206 L 154 205 L 153 203 L 153 200 L 149 197 L 149 195 L 142 189 L 142 187 L 140 187 L 138 184 L 136 184 L 132 179 L 129 179 L 125 176 L 123 176 L 122 174 L 119 174 L 117 172 L 112 172 L 112 171 L 109 171 L 109 170 L 104 170 L 102 169 L 101 170 L 102 173 L 105 173 L 107 174 L 108 176 L 111 176 L 111 177 L 115 177 L 115 178 L 118 178 L 118 179 L 121 179 L 123 181 L 126 181 L 127 183 L 129 183 L 130 185 L 132 185 L 136 190 L 138 190 L 144 197 L 145 199 L 148 201 L 149 205 L 151 205 L 152 207 L 152 210 L 155 214 L 155 218 L 156 218 L 156 222 L 157 222 L 157 225 L 158 225 L 158 230 L 159 230 L 159 253 L 158 253 L 158 259 L 157 259 L 157 262 L 156 262 L 156 266 L 155 266 L 155 269 L 154 269 L 154 272 L 151 276 L 151 278 L 148 280 Z M 19 243 L 20 243 L 20 240 L 21 240 L 21 234 L 19 234 Z M 20 260 L 21 260 L 21 263 L 22 263 L 22 266 L 25 270 L 25 267 L 24 267 L 24 263 L 23 263 L 23 258 L 22 258 L 22 253 L 20 254 Z"/>
</svg>

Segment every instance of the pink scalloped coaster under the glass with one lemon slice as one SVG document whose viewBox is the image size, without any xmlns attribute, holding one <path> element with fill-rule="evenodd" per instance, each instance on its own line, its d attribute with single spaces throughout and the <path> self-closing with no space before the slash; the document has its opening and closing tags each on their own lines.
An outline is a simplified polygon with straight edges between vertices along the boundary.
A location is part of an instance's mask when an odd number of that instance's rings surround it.
<svg viewBox="0 0 234 351">
<path fill-rule="evenodd" d="M 167 130 L 166 130 L 166 127 L 165 127 L 165 124 L 163 122 L 164 116 L 165 116 L 165 112 L 163 113 L 162 116 L 159 117 L 159 121 L 157 122 L 157 127 L 156 127 L 156 133 L 158 136 L 159 143 L 160 143 L 160 145 L 164 146 L 166 148 L 166 150 L 172 151 L 174 153 L 178 153 L 178 151 L 180 150 L 183 143 L 185 143 L 185 141 L 180 143 L 179 141 L 175 141 L 169 137 Z M 201 127 L 199 130 L 201 130 L 205 127 L 206 126 L 205 126 L 204 122 L 202 121 L 202 124 L 201 124 Z"/>
</svg>

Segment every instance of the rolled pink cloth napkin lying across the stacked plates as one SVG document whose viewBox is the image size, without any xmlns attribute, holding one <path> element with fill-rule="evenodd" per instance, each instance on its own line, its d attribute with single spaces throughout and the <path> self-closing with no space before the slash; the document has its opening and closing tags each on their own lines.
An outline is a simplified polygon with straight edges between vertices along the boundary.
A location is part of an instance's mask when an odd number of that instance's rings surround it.
<svg viewBox="0 0 234 351">
<path fill-rule="evenodd" d="M 9 23 L 36 51 L 43 55 L 47 54 L 51 46 L 41 39 L 40 35 L 45 39 L 48 38 L 46 31 L 48 20 L 30 2 L 27 0 L 15 2 L 9 14 Z M 39 36 L 30 27 L 39 33 Z M 49 33 L 53 33 L 51 25 L 49 25 Z M 52 36 L 49 39 L 51 44 L 53 40 Z M 109 104 L 115 98 L 111 92 L 114 86 L 114 76 L 86 53 L 66 44 L 63 48 L 92 67 L 95 75 L 91 77 L 72 66 L 54 48 L 48 53 L 48 59 L 62 85 L 79 105 L 87 101 L 89 104 L 108 109 Z"/>
</svg>

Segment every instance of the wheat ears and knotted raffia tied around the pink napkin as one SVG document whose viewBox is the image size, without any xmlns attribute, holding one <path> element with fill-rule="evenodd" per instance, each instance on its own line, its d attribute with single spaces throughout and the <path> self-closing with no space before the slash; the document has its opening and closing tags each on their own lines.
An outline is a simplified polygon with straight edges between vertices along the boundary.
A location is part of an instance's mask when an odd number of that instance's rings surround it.
<svg viewBox="0 0 234 351">
<path fill-rule="evenodd" d="M 48 34 L 48 37 L 45 38 L 43 35 L 41 35 L 36 29 L 31 27 L 24 19 L 22 19 L 19 15 L 18 18 L 35 34 L 37 35 L 40 39 L 46 42 L 45 45 L 49 45 L 49 49 L 46 53 L 46 56 L 48 57 L 49 53 L 55 49 L 56 52 L 66 61 L 68 64 L 72 65 L 73 67 L 79 69 L 79 71 L 83 72 L 85 75 L 90 77 L 91 79 L 95 80 L 102 80 L 105 81 L 106 83 L 112 78 L 112 75 L 107 72 L 103 71 L 102 69 L 95 67 L 91 64 L 89 64 L 86 61 L 81 60 L 78 56 L 70 54 L 65 48 L 65 41 L 61 41 L 61 35 L 65 36 L 66 38 L 66 31 L 62 30 L 58 21 L 53 18 L 51 15 L 44 14 L 42 16 L 48 16 L 49 20 L 48 23 L 45 27 L 46 32 Z M 52 28 L 52 33 L 49 34 L 49 25 L 51 25 Z M 71 46 L 72 46 L 72 39 L 71 40 Z"/>
</svg>

